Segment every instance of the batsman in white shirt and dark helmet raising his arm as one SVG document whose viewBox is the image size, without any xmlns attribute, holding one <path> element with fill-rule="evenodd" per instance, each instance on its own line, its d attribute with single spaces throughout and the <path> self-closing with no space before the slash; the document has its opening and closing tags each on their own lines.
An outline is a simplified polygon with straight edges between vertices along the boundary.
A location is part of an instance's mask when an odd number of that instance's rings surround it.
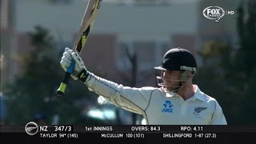
<svg viewBox="0 0 256 144">
<path fill-rule="evenodd" d="M 204 94 L 192 79 L 197 62 L 190 51 L 174 48 L 166 52 L 162 65 L 155 67 L 159 87 L 134 88 L 100 78 L 90 71 L 77 52 L 65 49 L 60 62 L 66 71 L 74 59 L 71 74 L 91 91 L 102 95 L 115 106 L 142 114 L 148 125 L 226 125 L 226 118 L 217 100 Z"/>
</svg>

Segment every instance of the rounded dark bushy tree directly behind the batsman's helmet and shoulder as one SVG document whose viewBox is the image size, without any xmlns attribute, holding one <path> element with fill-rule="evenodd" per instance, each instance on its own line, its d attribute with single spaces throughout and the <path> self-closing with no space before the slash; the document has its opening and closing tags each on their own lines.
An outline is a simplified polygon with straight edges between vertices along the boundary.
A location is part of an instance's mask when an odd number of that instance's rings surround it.
<svg viewBox="0 0 256 144">
<path fill-rule="evenodd" d="M 234 57 L 230 55 L 232 50 L 224 42 L 206 42 L 198 52 L 203 59 L 202 68 L 199 68 L 194 78 L 206 94 L 218 100 L 228 123 L 237 121 L 235 119 L 239 117 L 237 104 L 238 99 L 241 101 L 242 95 L 237 85 L 232 83 L 234 78 L 230 78 L 233 66 L 231 63 L 234 61 Z"/>
</svg>

